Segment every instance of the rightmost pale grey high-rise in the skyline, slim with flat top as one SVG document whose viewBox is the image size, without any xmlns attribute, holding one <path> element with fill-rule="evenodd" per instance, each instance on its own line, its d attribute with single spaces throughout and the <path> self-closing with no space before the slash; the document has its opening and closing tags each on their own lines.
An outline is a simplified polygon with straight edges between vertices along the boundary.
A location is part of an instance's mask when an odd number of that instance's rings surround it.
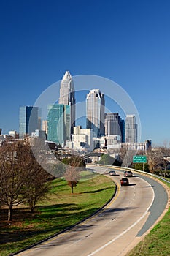
<svg viewBox="0 0 170 256">
<path fill-rule="evenodd" d="M 137 124 L 135 115 L 127 115 L 125 118 L 125 142 L 137 142 Z"/>
</svg>

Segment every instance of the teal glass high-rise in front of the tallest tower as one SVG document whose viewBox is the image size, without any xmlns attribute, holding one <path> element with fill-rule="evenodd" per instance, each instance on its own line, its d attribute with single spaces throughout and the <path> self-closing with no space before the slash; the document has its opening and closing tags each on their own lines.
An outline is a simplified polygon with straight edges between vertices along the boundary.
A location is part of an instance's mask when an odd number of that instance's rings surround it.
<svg viewBox="0 0 170 256">
<path fill-rule="evenodd" d="M 70 107 L 69 105 L 48 105 L 47 139 L 64 146 L 70 140 Z"/>
</svg>

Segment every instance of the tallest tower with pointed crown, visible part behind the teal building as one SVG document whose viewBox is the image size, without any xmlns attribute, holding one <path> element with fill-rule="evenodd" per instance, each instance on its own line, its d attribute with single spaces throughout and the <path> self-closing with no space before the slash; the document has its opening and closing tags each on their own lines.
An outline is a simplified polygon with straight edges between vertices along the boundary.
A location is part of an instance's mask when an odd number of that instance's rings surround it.
<svg viewBox="0 0 170 256">
<path fill-rule="evenodd" d="M 71 106 L 71 135 L 73 134 L 73 128 L 75 127 L 75 102 L 72 75 L 70 75 L 69 71 L 66 71 L 61 80 L 60 98 L 58 103 Z"/>
</svg>

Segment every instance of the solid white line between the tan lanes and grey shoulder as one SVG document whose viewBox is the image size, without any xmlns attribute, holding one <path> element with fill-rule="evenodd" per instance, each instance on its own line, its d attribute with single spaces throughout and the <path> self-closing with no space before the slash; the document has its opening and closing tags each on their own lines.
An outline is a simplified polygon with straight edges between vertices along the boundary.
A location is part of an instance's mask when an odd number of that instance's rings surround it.
<svg viewBox="0 0 170 256">
<path fill-rule="evenodd" d="M 152 193 L 153 193 L 153 197 L 152 197 L 152 202 L 150 203 L 150 206 L 148 206 L 147 210 L 144 212 L 144 214 L 142 215 L 142 217 L 140 217 L 136 222 L 134 222 L 133 225 L 131 225 L 130 227 L 128 227 L 126 230 L 123 231 L 123 233 L 120 233 L 118 236 L 116 236 L 115 238 L 113 238 L 111 241 L 109 241 L 107 244 L 104 244 L 103 246 L 101 246 L 100 248 L 96 249 L 96 251 L 94 252 L 90 252 L 90 254 L 88 256 L 92 256 L 92 255 L 96 255 L 97 252 L 100 252 L 102 249 L 104 249 L 105 247 L 107 247 L 109 244 L 112 244 L 114 241 L 116 241 L 118 238 L 120 238 L 120 236 L 123 236 L 125 233 L 127 233 L 129 230 L 131 230 L 132 227 L 134 227 L 135 225 L 137 225 L 147 214 L 147 212 L 149 211 L 150 207 L 152 206 L 153 200 L 155 199 L 155 192 L 152 189 Z"/>
</svg>

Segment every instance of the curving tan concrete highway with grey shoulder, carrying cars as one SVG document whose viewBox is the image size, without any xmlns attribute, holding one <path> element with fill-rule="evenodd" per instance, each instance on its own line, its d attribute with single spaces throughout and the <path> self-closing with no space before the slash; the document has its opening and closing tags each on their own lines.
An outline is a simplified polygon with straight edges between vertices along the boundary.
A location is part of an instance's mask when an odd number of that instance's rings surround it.
<svg viewBox="0 0 170 256">
<path fill-rule="evenodd" d="M 101 167 L 92 167 L 103 173 Z M 123 256 L 160 217 L 168 196 L 158 182 L 134 173 L 130 186 L 120 187 L 123 172 L 111 178 L 117 184 L 112 201 L 97 214 L 72 229 L 33 246 L 26 256 Z"/>
</svg>

